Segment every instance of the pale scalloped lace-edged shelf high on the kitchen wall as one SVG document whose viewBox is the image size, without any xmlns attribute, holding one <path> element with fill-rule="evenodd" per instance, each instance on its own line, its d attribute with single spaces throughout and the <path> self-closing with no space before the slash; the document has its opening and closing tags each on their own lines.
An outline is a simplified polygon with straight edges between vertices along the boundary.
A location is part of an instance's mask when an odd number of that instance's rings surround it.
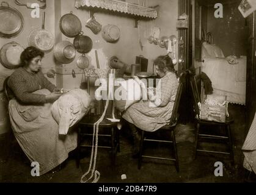
<svg viewBox="0 0 256 195">
<path fill-rule="evenodd" d="M 77 9 L 81 7 L 92 7 L 110 10 L 112 12 L 125 13 L 137 17 L 139 16 L 151 19 L 157 18 L 157 12 L 155 9 L 117 0 L 76 0 L 75 7 Z"/>
</svg>

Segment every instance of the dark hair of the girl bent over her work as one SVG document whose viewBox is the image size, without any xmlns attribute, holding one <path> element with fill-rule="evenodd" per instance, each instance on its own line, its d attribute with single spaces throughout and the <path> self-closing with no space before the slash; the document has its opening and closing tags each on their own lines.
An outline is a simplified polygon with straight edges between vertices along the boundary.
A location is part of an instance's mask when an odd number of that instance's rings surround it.
<svg viewBox="0 0 256 195">
<path fill-rule="evenodd" d="M 174 69 L 174 63 L 169 55 L 160 55 L 154 60 L 154 65 L 157 65 L 159 70 L 164 72 L 164 68 L 167 68 L 172 73 L 175 73 L 177 76 L 177 71 Z"/>
</svg>

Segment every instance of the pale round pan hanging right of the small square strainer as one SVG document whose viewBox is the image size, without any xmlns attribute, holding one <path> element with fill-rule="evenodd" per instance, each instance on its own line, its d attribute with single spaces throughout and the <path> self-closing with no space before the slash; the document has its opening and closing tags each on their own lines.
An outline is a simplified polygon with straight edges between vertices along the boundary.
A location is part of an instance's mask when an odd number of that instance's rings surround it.
<svg viewBox="0 0 256 195">
<path fill-rule="evenodd" d="M 102 37 L 107 42 L 114 42 L 114 41 L 119 40 L 119 37 L 120 37 L 119 27 L 117 27 L 113 24 L 108 24 L 108 25 L 104 26 L 102 29 Z"/>
</svg>

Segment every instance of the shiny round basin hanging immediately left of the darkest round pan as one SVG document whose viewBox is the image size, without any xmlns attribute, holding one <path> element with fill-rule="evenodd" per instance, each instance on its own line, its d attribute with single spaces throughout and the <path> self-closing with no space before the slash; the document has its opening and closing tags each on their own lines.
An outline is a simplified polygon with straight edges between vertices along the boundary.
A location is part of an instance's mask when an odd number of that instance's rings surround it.
<svg viewBox="0 0 256 195">
<path fill-rule="evenodd" d="M 76 49 L 70 41 L 60 41 L 54 47 L 54 57 L 60 63 L 70 63 L 76 57 Z"/>
</svg>

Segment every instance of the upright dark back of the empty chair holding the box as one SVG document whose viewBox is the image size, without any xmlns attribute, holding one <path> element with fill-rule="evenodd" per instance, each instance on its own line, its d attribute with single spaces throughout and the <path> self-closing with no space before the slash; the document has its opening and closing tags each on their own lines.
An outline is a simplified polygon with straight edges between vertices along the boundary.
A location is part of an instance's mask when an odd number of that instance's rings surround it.
<svg viewBox="0 0 256 195">
<path fill-rule="evenodd" d="M 198 103 L 200 102 L 200 96 L 197 88 L 196 77 L 194 76 L 194 74 L 192 74 L 191 71 L 187 71 L 187 72 L 189 74 L 189 83 L 192 90 L 192 96 L 193 96 L 192 101 L 194 105 L 194 111 L 197 116 L 200 116 L 200 109 L 198 105 Z"/>
</svg>

